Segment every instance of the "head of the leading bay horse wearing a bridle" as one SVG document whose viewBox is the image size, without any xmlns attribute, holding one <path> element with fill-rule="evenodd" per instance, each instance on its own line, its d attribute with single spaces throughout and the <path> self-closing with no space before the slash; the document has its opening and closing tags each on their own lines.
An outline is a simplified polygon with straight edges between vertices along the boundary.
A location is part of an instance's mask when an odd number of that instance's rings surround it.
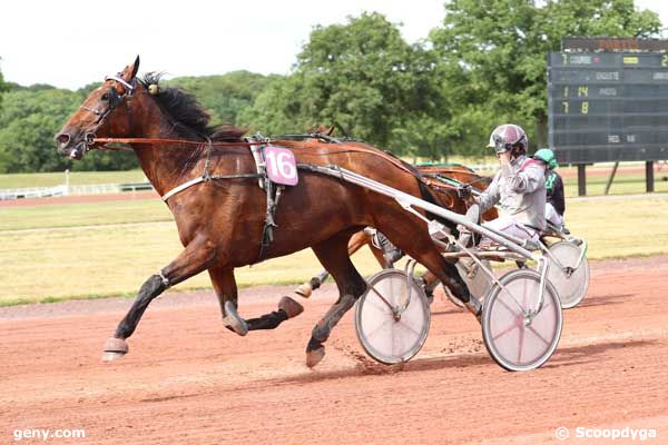
<svg viewBox="0 0 668 445">
<path fill-rule="evenodd" d="M 58 152 L 71 159 L 81 159 L 100 144 L 96 138 L 124 138 L 132 131 L 132 97 L 145 92 L 136 78 L 139 56 L 116 76 L 105 78 L 81 103 L 75 115 L 56 135 Z"/>
</svg>

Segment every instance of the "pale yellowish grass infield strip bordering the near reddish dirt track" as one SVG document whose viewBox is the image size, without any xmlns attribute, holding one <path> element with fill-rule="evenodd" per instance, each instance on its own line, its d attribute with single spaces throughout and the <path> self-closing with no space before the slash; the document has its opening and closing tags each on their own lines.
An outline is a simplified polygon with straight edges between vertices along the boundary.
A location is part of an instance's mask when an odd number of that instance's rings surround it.
<svg viewBox="0 0 668 445">
<path fill-rule="evenodd" d="M 568 204 L 572 233 L 588 258 L 668 254 L 668 196 Z M 407 234 L 410 235 L 410 234 Z M 181 249 L 176 226 L 157 199 L 0 207 L 0 305 L 134 296 Z M 361 273 L 379 269 L 365 249 Z M 311 250 L 237 269 L 240 286 L 296 284 L 322 269 Z M 206 273 L 175 290 L 210 287 Z"/>
</svg>

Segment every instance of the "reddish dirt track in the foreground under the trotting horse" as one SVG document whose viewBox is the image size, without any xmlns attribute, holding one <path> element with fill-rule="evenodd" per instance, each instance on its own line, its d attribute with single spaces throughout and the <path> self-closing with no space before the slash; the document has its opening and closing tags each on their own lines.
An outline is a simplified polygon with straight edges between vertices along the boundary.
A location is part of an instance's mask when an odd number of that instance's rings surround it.
<svg viewBox="0 0 668 445">
<path fill-rule="evenodd" d="M 668 257 L 595 264 L 557 353 L 529 373 L 498 367 L 477 322 L 442 298 L 411 363 L 367 359 L 348 314 L 315 370 L 304 347 L 331 286 L 299 318 L 245 338 L 222 327 L 212 295 L 168 294 L 112 364 L 101 345 L 130 300 L 0 308 L 0 444 L 23 428 L 85 428 L 72 443 L 104 444 L 610 443 L 560 442 L 559 426 L 656 428 L 646 442 L 667 444 L 667 277 Z M 242 312 L 288 290 L 246 289 Z"/>
</svg>

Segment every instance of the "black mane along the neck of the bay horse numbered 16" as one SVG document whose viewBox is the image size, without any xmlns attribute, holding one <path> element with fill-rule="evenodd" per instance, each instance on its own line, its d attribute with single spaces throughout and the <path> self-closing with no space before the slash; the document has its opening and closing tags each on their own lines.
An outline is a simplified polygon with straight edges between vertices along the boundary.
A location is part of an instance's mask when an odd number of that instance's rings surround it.
<svg viewBox="0 0 668 445">
<path fill-rule="evenodd" d="M 141 79 L 144 86 L 159 86 L 161 72 L 148 72 Z M 199 136 L 216 141 L 240 141 L 246 134 L 243 128 L 232 125 L 210 126 L 212 115 L 197 101 L 195 96 L 177 87 L 159 87 L 153 98 L 175 125 L 175 130 L 184 137 Z"/>
</svg>

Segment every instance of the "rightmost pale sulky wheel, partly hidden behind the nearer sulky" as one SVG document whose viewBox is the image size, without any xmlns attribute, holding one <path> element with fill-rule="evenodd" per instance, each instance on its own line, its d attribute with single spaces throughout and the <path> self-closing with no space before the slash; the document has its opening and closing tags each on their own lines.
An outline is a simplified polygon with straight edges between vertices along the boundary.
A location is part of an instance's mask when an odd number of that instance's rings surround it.
<svg viewBox="0 0 668 445">
<path fill-rule="evenodd" d="M 559 291 L 561 307 L 576 307 L 589 288 L 589 263 L 587 256 L 578 265 L 582 248 L 572 241 L 560 241 L 550 246 L 548 278 Z M 554 259 L 557 261 L 554 261 Z M 576 266 L 578 266 L 576 268 Z"/>
</svg>

